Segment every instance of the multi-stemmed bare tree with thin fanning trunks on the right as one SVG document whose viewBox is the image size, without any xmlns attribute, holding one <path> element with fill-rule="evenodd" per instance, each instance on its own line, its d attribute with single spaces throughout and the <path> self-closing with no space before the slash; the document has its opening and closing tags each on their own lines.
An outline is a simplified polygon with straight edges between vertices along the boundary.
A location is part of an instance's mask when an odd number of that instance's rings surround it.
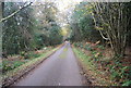
<svg viewBox="0 0 131 88">
<path fill-rule="evenodd" d="M 105 39 L 109 39 L 114 56 L 123 56 L 126 51 L 127 36 L 131 20 L 130 3 L 123 2 L 95 2 L 93 7 L 93 16 L 95 26 L 100 34 L 106 34 Z"/>
</svg>

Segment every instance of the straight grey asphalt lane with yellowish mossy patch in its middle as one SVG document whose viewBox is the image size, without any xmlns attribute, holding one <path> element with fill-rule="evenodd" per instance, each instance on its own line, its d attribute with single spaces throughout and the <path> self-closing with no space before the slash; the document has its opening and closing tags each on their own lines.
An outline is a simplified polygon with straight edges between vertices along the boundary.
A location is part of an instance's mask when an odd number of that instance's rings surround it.
<svg viewBox="0 0 131 88">
<path fill-rule="evenodd" d="M 13 86 L 82 86 L 82 75 L 70 42 Z"/>
</svg>

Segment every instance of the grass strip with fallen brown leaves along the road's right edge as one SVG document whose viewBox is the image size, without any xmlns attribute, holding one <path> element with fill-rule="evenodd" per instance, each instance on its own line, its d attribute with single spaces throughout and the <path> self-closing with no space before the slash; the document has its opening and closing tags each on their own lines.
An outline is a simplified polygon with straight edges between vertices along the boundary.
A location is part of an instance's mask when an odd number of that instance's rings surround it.
<svg viewBox="0 0 131 88">
<path fill-rule="evenodd" d="M 108 80 L 108 76 L 105 72 L 97 70 L 97 65 L 91 60 L 91 56 L 86 55 L 82 49 L 73 47 L 73 51 L 80 61 L 80 64 L 86 76 L 90 76 L 93 80 L 93 86 L 116 86 L 117 84 Z"/>
</svg>

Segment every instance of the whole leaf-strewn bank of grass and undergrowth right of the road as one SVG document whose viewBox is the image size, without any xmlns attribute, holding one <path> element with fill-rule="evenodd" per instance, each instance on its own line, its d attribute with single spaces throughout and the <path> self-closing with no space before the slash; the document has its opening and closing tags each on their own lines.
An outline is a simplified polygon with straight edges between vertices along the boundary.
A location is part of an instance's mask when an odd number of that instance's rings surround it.
<svg viewBox="0 0 131 88">
<path fill-rule="evenodd" d="M 126 62 L 124 59 L 112 59 L 111 51 L 98 43 L 98 41 L 96 43 L 75 42 L 73 43 L 74 52 L 87 65 L 86 67 L 91 67 L 90 71 L 95 74 L 94 76 L 100 79 L 100 85 L 106 83 L 107 86 L 131 86 L 130 62 Z"/>
</svg>

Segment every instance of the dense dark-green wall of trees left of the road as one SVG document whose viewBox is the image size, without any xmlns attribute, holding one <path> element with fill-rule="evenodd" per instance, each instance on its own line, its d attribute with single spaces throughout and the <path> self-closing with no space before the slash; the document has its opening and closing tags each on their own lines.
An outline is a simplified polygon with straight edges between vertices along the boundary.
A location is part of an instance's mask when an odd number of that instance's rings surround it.
<svg viewBox="0 0 131 88">
<path fill-rule="evenodd" d="M 56 22 L 57 8 L 55 3 L 45 2 L 40 4 L 40 8 L 35 4 L 22 9 L 26 4 L 23 2 L 2 3 L 3 18 L 16 12 L 2 21 L 3 54 L 19 54 L 22 51 L 56 46 L 62 41 L 60 26 Z"/>
</svg>

